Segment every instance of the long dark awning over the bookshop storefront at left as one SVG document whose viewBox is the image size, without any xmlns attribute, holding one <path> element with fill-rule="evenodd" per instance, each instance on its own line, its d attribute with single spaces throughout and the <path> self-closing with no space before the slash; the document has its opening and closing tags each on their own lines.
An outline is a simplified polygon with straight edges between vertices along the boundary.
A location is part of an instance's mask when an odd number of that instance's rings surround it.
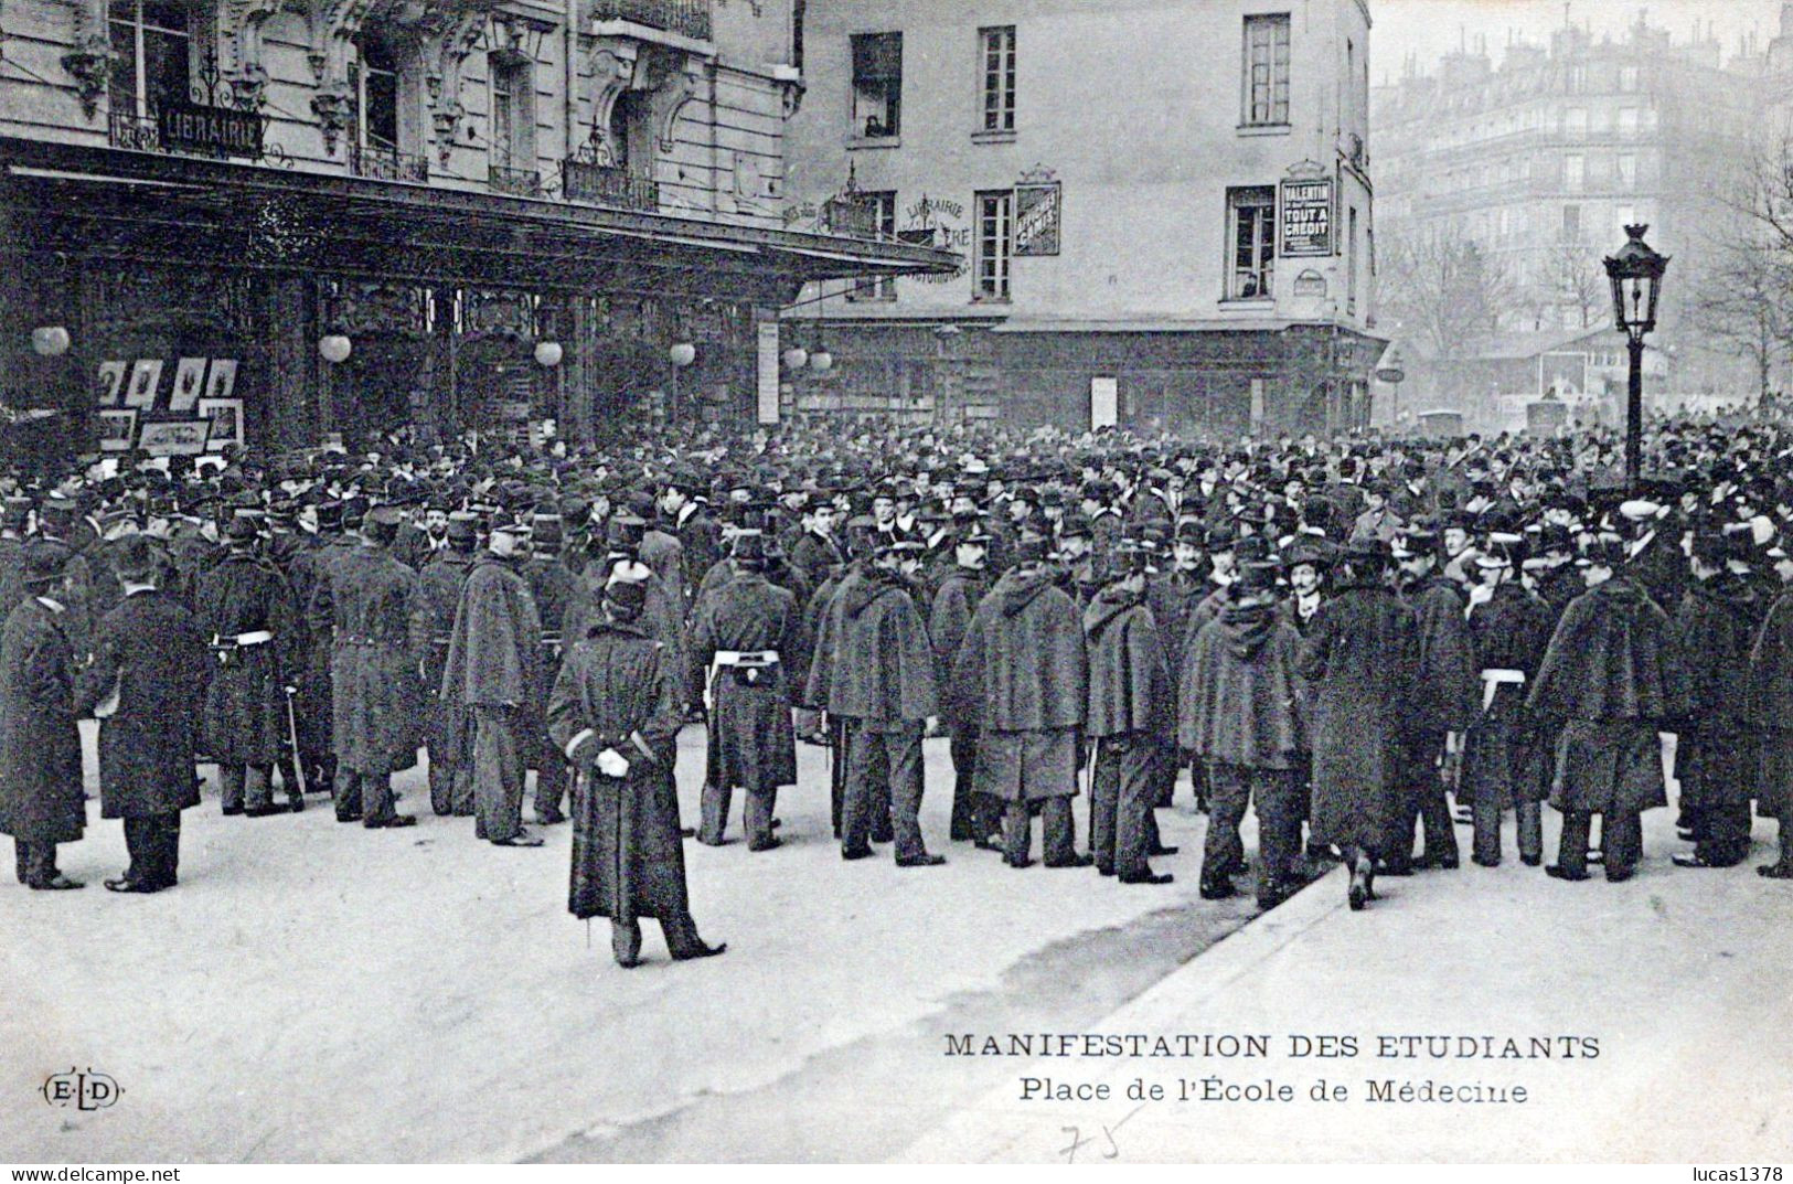
<svg viewBox="0 0 1793 1184">
<path fill-rule="evenodd" d="M 0 136 L 0 251 L 780 305 L 803 283 L 952 273 L 948 251 Z"/>
</svg>

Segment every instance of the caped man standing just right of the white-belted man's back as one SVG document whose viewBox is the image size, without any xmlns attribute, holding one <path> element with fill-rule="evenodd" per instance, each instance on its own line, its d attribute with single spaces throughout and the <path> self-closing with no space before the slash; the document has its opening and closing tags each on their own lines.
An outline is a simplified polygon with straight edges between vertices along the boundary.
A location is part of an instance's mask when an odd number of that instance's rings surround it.
<svg viewBox="0 0 1793 1184">
<path fill-rule="evenodd" d="M 880 814 L 898 866 L 934 866 L 922 838 L 922 737 L 938 712 L 927 622 L 902 572 L 920 544 L 886 542 L 855 579 L 841 583 L 816 639 L 807 696 L 843 721 L 841 858 L 873 854 Z"/>
</svg>

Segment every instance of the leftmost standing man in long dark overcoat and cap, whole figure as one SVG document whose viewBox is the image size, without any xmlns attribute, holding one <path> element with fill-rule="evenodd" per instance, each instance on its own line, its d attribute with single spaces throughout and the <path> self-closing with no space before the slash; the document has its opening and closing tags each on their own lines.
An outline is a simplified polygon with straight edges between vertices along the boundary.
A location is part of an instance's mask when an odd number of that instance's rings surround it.
<svg viewBox="0 0 1793 1184">
<path fill-rule="evenodd" d="M 86 827 L 75 653 L 61 624 L 63 597 L 79 592 L 70 558 L 56 540 L 25 544 L 25 599 L 0 626 L 0 834 L 13 836 L 18 883 L 39 892 L 82 886 L 56 866 L 57 843 Z"/>
</svg>

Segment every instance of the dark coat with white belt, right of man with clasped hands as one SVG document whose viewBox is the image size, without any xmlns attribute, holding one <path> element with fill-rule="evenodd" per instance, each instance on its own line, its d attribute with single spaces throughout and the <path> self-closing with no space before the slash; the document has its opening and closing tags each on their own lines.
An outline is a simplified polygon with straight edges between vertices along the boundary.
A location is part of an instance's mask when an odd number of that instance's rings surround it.
<svg viewBox="0 0 1793 1184">
<path fill-rule="evenodd" d="M 791 728 L 791 680 L 785 655 L 794 657 L 801 628 L 789 588 L 766 576 L 739 570 L 697 610 L 692 657 L 703 667 L 714 696 L 710 710 L 710 784 L 776 789 L 796 784 L 796 734 Z M 715 667 L 717 651 L 778 653 L 769 667 Z"/>
</svg>

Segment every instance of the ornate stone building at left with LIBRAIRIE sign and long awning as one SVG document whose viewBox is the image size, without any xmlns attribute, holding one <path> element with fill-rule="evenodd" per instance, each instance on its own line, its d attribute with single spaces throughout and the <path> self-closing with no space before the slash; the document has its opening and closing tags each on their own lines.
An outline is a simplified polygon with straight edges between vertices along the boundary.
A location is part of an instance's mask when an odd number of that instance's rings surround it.
<svg viewBox="0 0 1793 1184">
<path fill-rule="evenodd" d="M 803 283 L 954 266 L 785 224 L 791 0 L 13 0 L 0 32 L 4 402 L 102 448 L 751 420 Z"/>
</svg>

